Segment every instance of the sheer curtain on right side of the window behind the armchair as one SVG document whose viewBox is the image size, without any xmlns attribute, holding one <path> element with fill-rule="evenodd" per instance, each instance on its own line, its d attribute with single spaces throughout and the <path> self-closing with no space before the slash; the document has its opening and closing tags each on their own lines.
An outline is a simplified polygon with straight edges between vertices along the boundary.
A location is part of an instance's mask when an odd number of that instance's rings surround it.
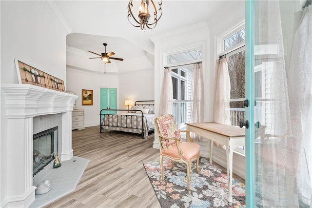
<svg viewBox="0 0 312 208">
<path fill-rule="evenodd" d="M 191 89 L 191 123 L 203 122 L 204 121 L 204 80 L 201 63 L 194 64 L 192 89 Z M 202 137 L 195 135 L 195 140 L 201 141 Z"/>
</svg>

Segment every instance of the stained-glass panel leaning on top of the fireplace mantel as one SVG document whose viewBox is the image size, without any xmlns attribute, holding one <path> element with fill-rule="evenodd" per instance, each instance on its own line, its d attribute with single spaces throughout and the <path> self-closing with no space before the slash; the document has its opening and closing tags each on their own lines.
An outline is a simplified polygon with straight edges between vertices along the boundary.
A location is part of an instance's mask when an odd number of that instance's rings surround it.
<svg viewBox="0 0 312 208">
<path fill-rule="evenodd" d="M 15 66 L 20 84 L 32 84 L 60 92 L 66 92 L 64 81 L 59 78 L 47 74 L 31 65 L 20 62 L 17 59 L 15 59 Z"/>
</svg>

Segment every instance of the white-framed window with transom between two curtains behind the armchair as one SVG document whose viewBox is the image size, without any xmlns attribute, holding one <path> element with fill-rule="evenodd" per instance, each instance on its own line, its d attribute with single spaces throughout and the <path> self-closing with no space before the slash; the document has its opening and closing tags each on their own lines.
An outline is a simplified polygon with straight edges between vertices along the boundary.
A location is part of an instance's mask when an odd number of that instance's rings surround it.
<svg viewBox="0 0 312 208">
<path fill-rule="evenodd" d="M 193 64 L 198 61 L 201 61 L 200 48 L 166 56 L 166 66 L 171 69 L 173 84 L 172 112 L 179 129 L 185 129 L 185 123 L 190 122 Z"/>
</svg>

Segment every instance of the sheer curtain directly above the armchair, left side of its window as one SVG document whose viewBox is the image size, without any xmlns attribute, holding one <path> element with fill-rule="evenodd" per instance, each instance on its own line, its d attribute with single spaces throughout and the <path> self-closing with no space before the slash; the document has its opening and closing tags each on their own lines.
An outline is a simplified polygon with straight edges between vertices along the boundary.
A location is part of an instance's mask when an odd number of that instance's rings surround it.
<svg viewBox="0 0 312 208">
<path fill-rule="evenodd" d="M 172 113 L 173 87 L 171 71 L 169 68 L 164 69 L 164 79 L 161 87 L 159 115 L 167 115 Z"/>
</svg>

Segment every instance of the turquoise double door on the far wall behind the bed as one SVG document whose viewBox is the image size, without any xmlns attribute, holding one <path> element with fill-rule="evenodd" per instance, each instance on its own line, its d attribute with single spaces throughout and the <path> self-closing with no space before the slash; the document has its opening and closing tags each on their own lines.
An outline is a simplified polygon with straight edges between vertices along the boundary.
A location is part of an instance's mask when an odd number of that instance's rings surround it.
<svg viewBox="0 0 312 208">
<path fill-rule="evenodd" d="M 117 88 L 100 88 L 100 110 L 102 109 L 117 109 Z M 117 111 L 105 110 L 102 113 L 112 114 Z"/>
</svg>

